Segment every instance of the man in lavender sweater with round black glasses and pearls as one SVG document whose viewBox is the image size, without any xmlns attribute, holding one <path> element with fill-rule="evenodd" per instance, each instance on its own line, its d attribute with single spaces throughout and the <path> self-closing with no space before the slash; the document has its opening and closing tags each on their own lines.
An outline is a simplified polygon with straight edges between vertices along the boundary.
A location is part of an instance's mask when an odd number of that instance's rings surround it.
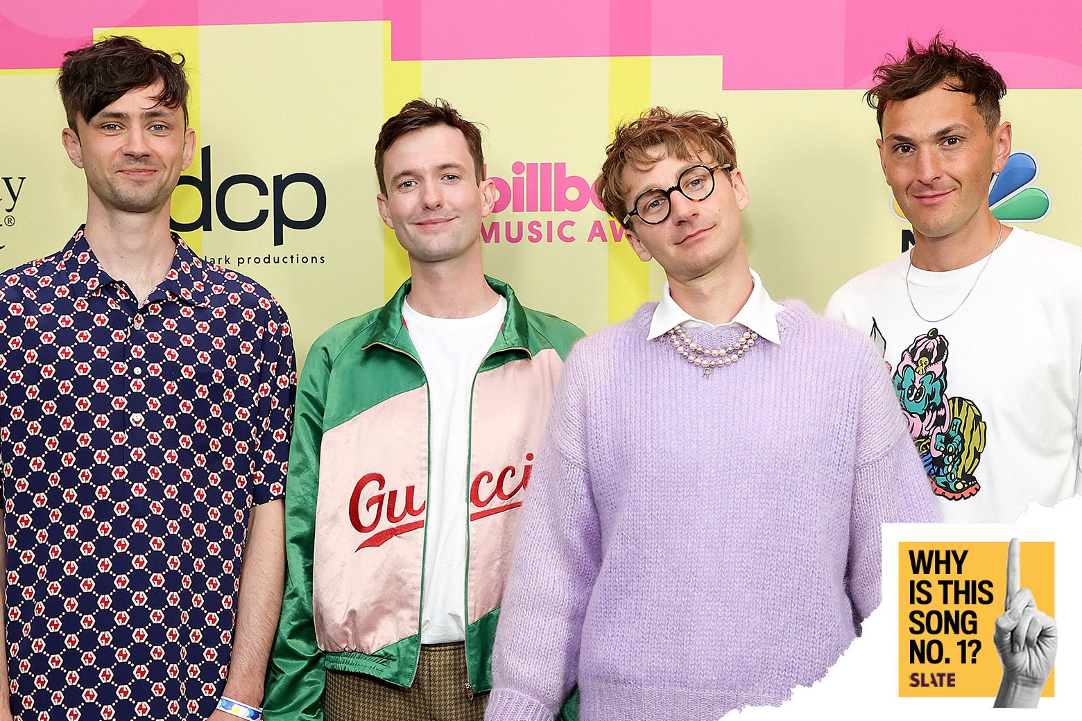
<svg viewBox="0 0 1082 721">
<path fill-rule="evenodd" d="M 867 338 L 770 299 L 725 122 L 654 108 L 598 179 L 661 303 L 580 342 L 533 468 L 486 719 L 717 719 L 821 678 L 936 520 Z"/>
</svg>

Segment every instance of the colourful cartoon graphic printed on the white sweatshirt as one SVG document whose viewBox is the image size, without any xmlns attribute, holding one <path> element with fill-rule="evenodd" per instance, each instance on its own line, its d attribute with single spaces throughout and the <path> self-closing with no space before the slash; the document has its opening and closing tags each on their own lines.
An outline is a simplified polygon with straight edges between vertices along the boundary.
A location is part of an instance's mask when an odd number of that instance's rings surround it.
<svg viewBox="0 0 1082 721">
<path fill-rule="evenodd" d="M 872 329 L 882 338 L 874 319 Z M 948 346 L 937 329 L 913 338 L 894 372 L 894 389 L 932 490 L 962 500 L 980 491 L 974 472 L 985 451 L 986 425 L 976 403 L 947 395 Z"/>
</svg>

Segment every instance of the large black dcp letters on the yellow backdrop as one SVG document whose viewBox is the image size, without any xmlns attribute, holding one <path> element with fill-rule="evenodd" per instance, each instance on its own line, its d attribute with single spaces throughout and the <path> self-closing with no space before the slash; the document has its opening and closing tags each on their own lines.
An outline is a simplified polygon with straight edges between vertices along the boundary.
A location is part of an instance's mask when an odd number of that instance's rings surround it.
<svg viewBox="0 0 1082 721">
<path fill-rule="evenodd" d="M 312 173 L 275 175 L 269 187 L 267 186 L 267 182 L 258 175 L 238 173 L 227 176 L 215 188 L 211 173 L 211 151 L 209 145 L 203 146 L 201 160 L 202 172 L 199 177 L 182 175 L 177 183 L 177 187 L 184 185 L 194 187 L 199 191 L 200 198 L 199 216 L 195 221 L 185 223 L 176 218 L 171 218 L 170 227 L 177 232 L 187 232 L 196 229 L 212 231 L 214 229 L 214 217 L 217 217 L 219 223 L 229 230 L 256 230 L 262 228 L 269 217 L 270 226 L 274 230 L 274 244 L 281 245 L 285 242 L 286 228 L 308 230 L 319 225 L 327 213 L 327 190 L 324 188 L 322 182 Z M 235 218 L 229 214 L 227 201 L 229 191 L 239 185 L 252 186 L 261 198 L 270 196 L 270 208 L 261 209 L 255 214 L 255 217 L 252 218 Z M 311 188 L 311 191 L 315 195 L 315 204 L 307 217 L 291 217 L 286 212 L 283 200 L 286 191 L 291 186 L 298 185 Z"/>
</svg>

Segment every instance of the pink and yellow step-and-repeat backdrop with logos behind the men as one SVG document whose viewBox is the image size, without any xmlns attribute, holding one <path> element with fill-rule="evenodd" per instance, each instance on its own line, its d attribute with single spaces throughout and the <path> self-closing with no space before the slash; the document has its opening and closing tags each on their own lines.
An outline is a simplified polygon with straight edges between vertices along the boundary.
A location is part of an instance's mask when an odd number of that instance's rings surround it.
<svg viewBox="0 0 1082 721">
<path fill-rule="evenodd" d="M 527 6 L 528 4 L 528 6 Z M 1082 25 L 1076 0 L 105 0 L 0 9 L 0 265 L 58 249 L 85 184 L 60 143 L 66 50 L 127 34 L 188 58 L 198 152 L 173 221 L 204 256 L 269 288 L 303 360 L 332 323 L 408 275 L 375 211 L 372 147 L 415 96 L 484 123 L 499 189 L 486 269 L 586 331 L 656 298 L 591 184 L 611 128 L 650 105 L 725 116 L 752 202 L 744 239 L 776 297 L 821 309 L 901 249 L 862 92 L 906 37 L 945 35 L 1005 76 L 1015 160 L 998 215 L 1082 241 Z M 1021 155 L 1021 153 L 1025 153 Z M 1032 161 L 1032 162 L 1031 162 Z M 1005 196 L 1001 191 L 1005 191 Z"/>
</svg>

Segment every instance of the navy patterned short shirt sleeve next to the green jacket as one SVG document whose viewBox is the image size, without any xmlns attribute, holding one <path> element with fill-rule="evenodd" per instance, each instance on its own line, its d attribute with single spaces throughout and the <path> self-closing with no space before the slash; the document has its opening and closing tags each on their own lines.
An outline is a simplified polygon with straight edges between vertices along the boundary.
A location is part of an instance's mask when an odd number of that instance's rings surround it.
<svg viewBox="0 0 1082 721">
<path fill-rule="evenodd" d="M 289 319 L 276 301 L 272 298 L 269 303 L 255 409 L 261 419 L 252 475 L 255 504 L 277 500 L 286 493 L 293 392 L 296 388 L 293 336 Z"/>
</svg>

